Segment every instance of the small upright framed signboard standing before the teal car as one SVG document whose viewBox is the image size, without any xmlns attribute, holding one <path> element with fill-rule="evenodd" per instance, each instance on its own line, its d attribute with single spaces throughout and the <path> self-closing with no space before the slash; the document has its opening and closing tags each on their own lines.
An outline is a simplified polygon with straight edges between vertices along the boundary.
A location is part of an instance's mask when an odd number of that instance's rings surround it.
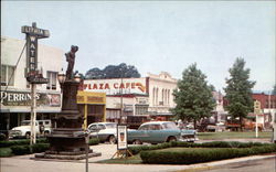
<svg viewBox="0 0 276 172">
<path fill-rule="evenodd" d="M 126 150 L 127 149 L 127 126 L 118 125 L 117 126 L 117 149 Z"/>
</svg>

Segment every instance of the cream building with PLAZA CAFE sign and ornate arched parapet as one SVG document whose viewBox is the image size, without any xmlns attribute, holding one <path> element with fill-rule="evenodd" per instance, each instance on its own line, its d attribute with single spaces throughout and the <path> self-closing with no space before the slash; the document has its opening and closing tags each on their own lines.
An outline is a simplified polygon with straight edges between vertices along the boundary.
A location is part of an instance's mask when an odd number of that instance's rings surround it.
<svg viewBox="0 0 276 172">
<path fill-rule="evenodd" d="M 85 79 L 85 92 L 106 93 L 106 120 L 126 121 L 129 116 L 171 117 L 177 79 L 168 73 L 140 78 Z"/>
</svg>

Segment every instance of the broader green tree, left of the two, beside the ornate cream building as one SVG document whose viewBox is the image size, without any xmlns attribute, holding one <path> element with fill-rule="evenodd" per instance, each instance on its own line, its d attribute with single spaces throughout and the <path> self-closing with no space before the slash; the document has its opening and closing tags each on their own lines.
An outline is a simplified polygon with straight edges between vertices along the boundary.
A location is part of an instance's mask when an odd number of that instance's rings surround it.
<svg viewBox="0 0 276 172">
<path fill-rule="evenodd" d="M 211 116 L 215 106 L 211 86 L 205 78 L 206 76 L 197 68 L 197 64 L 192 64 L 184 69 L 178 88 L 172 93 L 177 106 L 171 111 L 178 119 L 192 120 L 194 128 L 201 118 Z"/>
</svg>

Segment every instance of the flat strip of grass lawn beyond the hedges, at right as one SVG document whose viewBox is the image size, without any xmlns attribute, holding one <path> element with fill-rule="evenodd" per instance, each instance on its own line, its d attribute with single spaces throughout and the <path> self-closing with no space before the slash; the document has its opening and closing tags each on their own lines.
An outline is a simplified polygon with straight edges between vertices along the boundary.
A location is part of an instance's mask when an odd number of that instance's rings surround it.
<svg viewBox="0 0 276 172">
<path fill-rule="evenodd" d="M 258 132 L 259 139 L 270 139 L 273 132 Z M 254 131 L 244 131 L 244 132 L 199 132 L 198 137 L 200 140 L 219 140 L 219 139 L 254 139 L 256 133 Z"/>
</svg>

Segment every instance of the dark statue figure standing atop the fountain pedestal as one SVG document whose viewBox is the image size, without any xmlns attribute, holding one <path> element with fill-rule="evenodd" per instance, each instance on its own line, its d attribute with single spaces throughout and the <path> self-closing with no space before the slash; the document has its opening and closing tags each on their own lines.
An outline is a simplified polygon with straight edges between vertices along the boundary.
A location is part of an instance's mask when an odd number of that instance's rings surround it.
<svg viewBox="0 0 276 172">
<path fill-rule="evenodd" d="M 73 68 L 75 64 L 75 53 L 78 51 L 78 46 L 72 45 L 71 51 L 65 53 L 66 61 L 68 62 L 66 71 L 66 79 L 73 79 Z"/>
</svg>

